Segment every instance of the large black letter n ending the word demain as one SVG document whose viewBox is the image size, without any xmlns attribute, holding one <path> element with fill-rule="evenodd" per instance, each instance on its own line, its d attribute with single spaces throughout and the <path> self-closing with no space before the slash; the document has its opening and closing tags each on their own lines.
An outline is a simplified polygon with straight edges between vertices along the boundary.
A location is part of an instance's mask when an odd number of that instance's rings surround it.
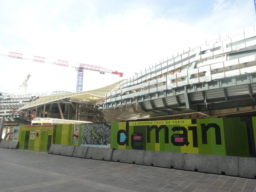
<svg viewBox="0 0 256 192">
<path fill-rule="evenodd" d="M 202 128 L 202 143 L 207 144 L 207 131 L 210 128 L 215 129 L 215 139 L 216 139 L 216 145 L 221 145 L 221 135 L 220 135 L 220 126 L 216 123 L 209 123 L 207 126 L 205 124 L 201 124 Z"/>
</svg>

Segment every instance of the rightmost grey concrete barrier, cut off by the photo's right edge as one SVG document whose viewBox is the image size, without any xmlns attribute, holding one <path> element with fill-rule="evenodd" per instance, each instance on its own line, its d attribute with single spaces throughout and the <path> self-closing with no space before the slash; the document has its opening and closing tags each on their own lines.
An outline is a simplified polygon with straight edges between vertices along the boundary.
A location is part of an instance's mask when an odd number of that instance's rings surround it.
<svg viewBox="0 0 256 192">
<path fill-rule="evenodd" d="M 256 158 L 238 157 L 239 177 L 252 178 L 256 177 Z"/>
</svg>

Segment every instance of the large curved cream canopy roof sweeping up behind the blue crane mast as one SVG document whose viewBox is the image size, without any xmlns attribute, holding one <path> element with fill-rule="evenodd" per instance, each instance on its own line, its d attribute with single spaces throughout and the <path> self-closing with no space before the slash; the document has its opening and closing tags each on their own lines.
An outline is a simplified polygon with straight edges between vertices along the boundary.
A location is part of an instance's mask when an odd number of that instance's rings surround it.
<svg viewBox="0 0 256 192">
<path fill-rule="evenodd" d="M 113 84 L 110 84 L 108 86 L 90 90 L 90 91 L 47 95 L 47 96 L 41 97 L 35 101 L 32 101 L 32 102 L 28 103 L 27 105 L 22 106 L 21 108 L 19 108 L 19 110 L 35 108 L 35 107 L 42 106 L 47 103 L 52 103 L 54 101 L 63 100 L 66 98 L 73 98 L 73 99 L 96 102 L 97 99 L 101 99 L 102 97 L 105 97 L 107 93 L 116 91 L 120 87 L 120 82 L 122 82 L 122 81 L 123 80 L 118 81 Z"/>
</svg>

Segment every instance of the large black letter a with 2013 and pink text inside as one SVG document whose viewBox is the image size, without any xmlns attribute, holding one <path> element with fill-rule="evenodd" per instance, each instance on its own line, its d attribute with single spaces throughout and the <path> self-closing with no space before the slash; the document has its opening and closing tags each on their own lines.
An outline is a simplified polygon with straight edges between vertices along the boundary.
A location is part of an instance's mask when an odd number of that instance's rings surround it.
<svg viewBox="0 0 256 192">
<path fill-rule="evenodd" d="M 183 134 L 173 134 L 171 137 L 172 144 L 174 146 L 188 146 L 188 130 L 185 127 L 173 127 L 172 131 L 183 131 Z"/>
</svg>

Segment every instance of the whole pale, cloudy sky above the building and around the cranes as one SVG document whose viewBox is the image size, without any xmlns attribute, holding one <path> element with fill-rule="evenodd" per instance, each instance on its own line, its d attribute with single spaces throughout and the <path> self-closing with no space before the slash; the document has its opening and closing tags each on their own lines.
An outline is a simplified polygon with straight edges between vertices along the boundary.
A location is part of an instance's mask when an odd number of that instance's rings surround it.
<svg viewBox="0 0 256 192">
<path fill-rule="evenodd" d="M 0 1 L 0 53 L 124 73 L 84 70 L 83 91 L 171 58 L 221 33 L 256 26 L 253 0 Z M 0 92 L 76 92 L 75 68 L 0 55 Z"/>
</svg>

